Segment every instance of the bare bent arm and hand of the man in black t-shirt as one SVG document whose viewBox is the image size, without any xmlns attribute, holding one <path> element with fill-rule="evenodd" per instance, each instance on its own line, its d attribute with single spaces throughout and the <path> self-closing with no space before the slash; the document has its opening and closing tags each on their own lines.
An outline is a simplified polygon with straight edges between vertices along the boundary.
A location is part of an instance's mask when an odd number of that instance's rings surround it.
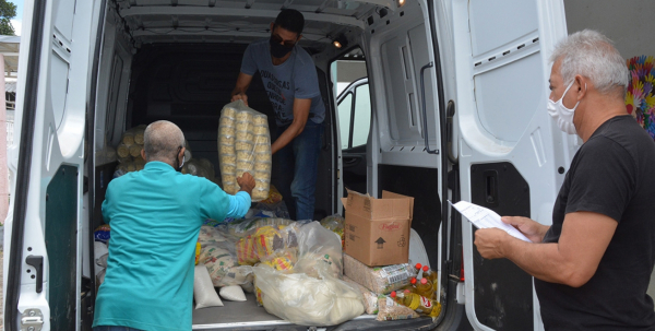
<svg viewBox="0 0 655 331">
<path fill-rule="evenodd" d="M 486 228 L 476 230 L 475 245 L 486 259 L 508 258 L 541 281 L 580 287 L 596 273 L 617 225 L 604 214 L 574 212 L 564 216 L 559 243 L 526 243 Z"/>
</svg>

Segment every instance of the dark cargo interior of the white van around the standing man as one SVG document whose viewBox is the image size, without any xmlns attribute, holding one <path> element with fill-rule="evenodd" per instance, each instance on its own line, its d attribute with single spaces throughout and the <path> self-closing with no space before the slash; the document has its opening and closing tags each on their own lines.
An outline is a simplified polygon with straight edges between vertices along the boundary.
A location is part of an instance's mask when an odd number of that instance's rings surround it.
<svg viewBox="0 0 655 331">
<path fill-rule="evenodd" d="M 340 198 L 346 188 L 366 192 L 371 189 L 371 181 L 378 181 L 377 191 L 369 193 L 378 194 L 384 189 L 415 197 L 413 228 L 422 238 L 430 264 L 438 265 L 441 211 L 436 165 L 380 165 L 378 178 L 367 179 L 370 173 L 367 141 L 371 113 L 376 113 L 371 111 L 372 93 L 366 85 L 358 86 L 346 102 L 336 101 L 337 93 L 352 82 L 367 78 L 368 54 L 364 49 L 374 39 L 379 45 L 376 52 L 383 61 L 394 63 L 386 67 L 388 83 L 380 90 L 393 94 L 389 95 L 394 105 L 391 108 L 394 111 L 389 114 L 394 126 L 392 135 L 405 145 L 422 141 L 417 129 L 420 122 L 416 93 L 407 96 L 404 91 L 394 92 L 396 82 L 415 79 L 418 67 L 427 61 L 424 13 L 414 1 L 107 1 L 99 27 L 103 42 L 94 130 L 96 209 L 90 228 L 102 224 L 97 206 L 117 166 L 116 161 L 104 159 L 102 151 L 107 145 L 116 147 L 129 128 L 160 119 L 177 123 L 193 157 L 210 159 L 219 178 L 216 138 L 221 109 L 230 102 L 246 47 L 270 37 L 270 24 L 284 8 L 297 9 L 305 15 L 299 45 L 315 62 L 326 108 L 314 220 L 341 213 Z M 249 106 L 267 115 L 274 131 L 274 114 L 259 73 L 247 94 Z M 344 126 L 341 131 L 340 122 Z M 429 130 L 434 137 L 434 127 Z M 344 158 L 340 159 L 342 151 Z M 341 162 L 344 162 L 343 173 Z M 281 170 L 273 169 L 273 182 Z M 389 176 L 392 173 L 397 176 Z M 413 175 L 416 173 L 425 177 Z M 434 185 L 426 187 L 426 179 Z M 87 268 L 84 273 L 91 274 Z M 194 310 L 193 329 L 307 329 L 287 326 L 269 315 L 257 307 L 252 295 L 248 295 L 246 303 L 224 304 L 225 307 Z M 431 318 L 394 322 L 379 322 L 374 318 L 365 315 L 342 328 L 419 329 L 433 323 Z"/>
</svg>

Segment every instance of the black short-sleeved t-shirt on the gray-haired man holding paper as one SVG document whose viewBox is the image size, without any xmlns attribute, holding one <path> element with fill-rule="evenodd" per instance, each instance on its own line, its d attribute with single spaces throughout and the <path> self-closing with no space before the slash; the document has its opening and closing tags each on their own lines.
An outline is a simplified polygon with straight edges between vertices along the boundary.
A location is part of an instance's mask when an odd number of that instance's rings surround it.
<svg viewBox="0 0 655 331">
<path fill-rule="evenodd" d="M 582 211 L 619 224 L 586 284 L 535 279 L 546 330 L 655 330 L 646 295 L 655 262 L 655 143 L 630 115 L 609 119 L 580 147 L 544 243 L 557 243 L 564 215 Z"/>
</svg>

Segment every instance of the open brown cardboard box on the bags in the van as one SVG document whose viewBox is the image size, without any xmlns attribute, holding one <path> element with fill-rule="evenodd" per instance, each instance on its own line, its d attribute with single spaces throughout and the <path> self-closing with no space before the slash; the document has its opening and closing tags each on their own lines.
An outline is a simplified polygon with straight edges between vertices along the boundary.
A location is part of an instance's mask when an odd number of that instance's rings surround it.
<svg viewBox="0 0 655 331">
<path fill-rule="evenodd" d="M 407 263 L 414 198 L 382 192 L 376 199 L 348 190 L 345 252 L 369 267 Z"/>
</svg>

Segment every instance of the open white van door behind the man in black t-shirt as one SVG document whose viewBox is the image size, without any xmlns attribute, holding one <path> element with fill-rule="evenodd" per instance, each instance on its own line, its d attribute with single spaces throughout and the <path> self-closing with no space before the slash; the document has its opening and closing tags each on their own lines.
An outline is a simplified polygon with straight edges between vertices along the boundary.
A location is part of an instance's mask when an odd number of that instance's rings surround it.
<svg viewBox="0 0 655 331">
<path fill-rule="evenodd" d="M 551 223 L 577 138 L 546 111 L 549 56 L 565 36 L 563 2 L 454 0 L 462 200 Z M 466 315 L 477 330 L 543 329 L 533 277 L 485 260 L 463 221 Z"/>
</svg>

